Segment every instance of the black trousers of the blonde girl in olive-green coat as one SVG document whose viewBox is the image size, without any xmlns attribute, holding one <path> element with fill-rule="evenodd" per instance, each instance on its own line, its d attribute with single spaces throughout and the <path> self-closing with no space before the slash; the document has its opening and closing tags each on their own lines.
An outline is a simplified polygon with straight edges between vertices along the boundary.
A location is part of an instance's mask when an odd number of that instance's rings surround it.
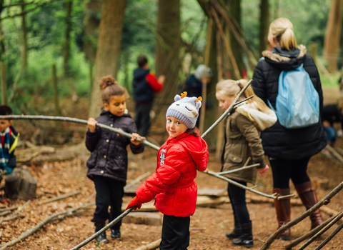
<svg viewBox="0 0 343 250">
<path fill-rule="evenodd" d="M 247 186 L 247 182 L 236 181 L 239 184 Z M 227 185 L 227 194 L 231 202 L 232 210 L 234 211 L 234 217 L 239 221 L 239 224 L 245 224 L 250 221 L 249 211 L 247 209 L 247 202 L 245 201 L 245 189 L 241 189 L 234 184 Z"/>
</svg>

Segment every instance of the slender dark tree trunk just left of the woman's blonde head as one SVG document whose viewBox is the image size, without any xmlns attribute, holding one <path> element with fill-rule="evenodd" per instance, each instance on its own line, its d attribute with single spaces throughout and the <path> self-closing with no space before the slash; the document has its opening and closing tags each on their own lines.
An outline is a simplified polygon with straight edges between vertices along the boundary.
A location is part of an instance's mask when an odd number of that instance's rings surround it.
<svg viewBox="0 0 343 250">
<path fill-rule="evenodd" d="M 260 16 L 259 16 L 259 55 L 262 51 L 267 49 L 267 36 L 269 29 L 269 0 L 261 0 L 259 6 Z"/>
</svg>

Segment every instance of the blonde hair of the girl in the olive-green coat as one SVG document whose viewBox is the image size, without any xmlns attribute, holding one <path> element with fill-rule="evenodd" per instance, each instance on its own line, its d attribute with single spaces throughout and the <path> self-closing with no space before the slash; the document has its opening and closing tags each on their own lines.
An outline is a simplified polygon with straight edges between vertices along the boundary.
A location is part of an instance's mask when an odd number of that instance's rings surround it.
<svg viewBox="0 0 343 250">
<path fill-rule="evenodd" d="M 247 83 L 248 81 L 245 79 L 240 79 L 237 81 L 222 80 L 217 84 L 216 91 L 224 96 L 233 97 L 239 94 L 239 92 L 244 88 L 244 86 L 247 85 Z M 254 96 L 252 99 L 247 100 L 249 104 L 254 103 L 259 111 L 269 111 L 269 107 L 264 103 L 264 101 L 254 94 L 254 90 L 252 89 L 251 85 L 247 87 L 240 99 L 246 99 L 249 96 Z"/>
</svg>

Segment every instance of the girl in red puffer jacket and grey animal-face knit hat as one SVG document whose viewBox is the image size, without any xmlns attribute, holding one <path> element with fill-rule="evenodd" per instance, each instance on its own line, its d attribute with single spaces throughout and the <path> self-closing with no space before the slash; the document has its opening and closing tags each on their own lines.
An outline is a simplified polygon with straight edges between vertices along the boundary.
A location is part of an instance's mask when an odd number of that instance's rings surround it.
<svg viewBox="0 0 343 250">
<path fill-rule="evenodd" d="M 206 142 L 199 136 L 195 123 L 202 106 L 201 97 L 187 97 L 187 92 L 174 98 L 166 111 L 169 137 L 157 155 L 156 173 L 139 186 L 136 197 L 126 209 L 149 202 L 162 214 L 163 226 L 159 249 L 187 249 L 190 216 L 197 204 L 197 170 L 204 171 L 209 160 Z"/>
</svg>

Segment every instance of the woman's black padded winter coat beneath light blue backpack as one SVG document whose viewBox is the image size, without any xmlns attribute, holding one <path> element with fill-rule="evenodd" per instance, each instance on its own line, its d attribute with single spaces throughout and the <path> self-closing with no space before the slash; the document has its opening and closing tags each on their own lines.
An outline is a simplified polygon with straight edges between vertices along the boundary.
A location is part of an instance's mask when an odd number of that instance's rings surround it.
<svg viewBox="0 0 343 250">
<path fill-rule="evenodd" d="M 269 100 L 276 109 L 281 71 L 293 70 L 303 64 L 319 94 L 319 111 L 322 111 L 323 93 L 317 66 L 311 56 L 305 54 L 306 48 L 304 46 L 300 48 L 302 51 L 296 48 L 287 51 L 281 47 L 274 47 L 272 52 L 264 51 L 264 59 L 259 61 L 254 70 L 252 88 L 259 98 L 267 105 Z M 283 61 L 280 56 L 288 57 L 290 60 Z M 317 124 L 301 129 L 286 129 L 277 121 L 276 124 L 262 131 L 261 139 L 264 153 L 277 159 L 301 159 L 313 156 L 327 145 L 321 119 Z"/>
</svg>

